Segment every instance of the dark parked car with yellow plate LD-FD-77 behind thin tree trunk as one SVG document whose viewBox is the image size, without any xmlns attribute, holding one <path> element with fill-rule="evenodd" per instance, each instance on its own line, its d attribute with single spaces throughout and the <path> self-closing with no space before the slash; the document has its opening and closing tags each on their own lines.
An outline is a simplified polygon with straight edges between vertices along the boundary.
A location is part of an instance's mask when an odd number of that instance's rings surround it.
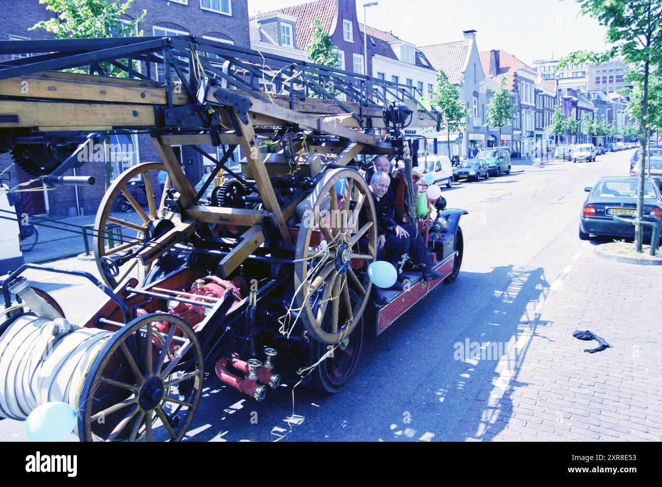
<svg viewBox="0 0 662 487">
<path fill-rule="evenodd" d="M 591 235 L 602 237 L 634 237 L 634 225 L 622 223 L 613 215 L 634 217 L 637 209 L 637 178 L 605 176 L 600 178 L 589 192 L 579 217 L 579 239 L 589 240 Z M 644 181 L 643 213 L 662 220 L 662 194 L 658 184 L 646 178 Z M 651 229 L 643 226 L 644 235 Z"/>
</svg>

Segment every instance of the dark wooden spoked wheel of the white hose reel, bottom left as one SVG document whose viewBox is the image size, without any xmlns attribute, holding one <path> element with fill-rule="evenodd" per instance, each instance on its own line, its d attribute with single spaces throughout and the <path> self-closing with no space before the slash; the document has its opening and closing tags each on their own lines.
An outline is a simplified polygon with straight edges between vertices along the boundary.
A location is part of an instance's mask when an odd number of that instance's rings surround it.
<svg viewBox="0 0 662 487">
<path fill-rule="evenodd" d="M 108 341 L 83 383 L 79 438 L 179 441 L 202 385 L 203 356 L 193 328 L 167 313 L 136 318 Z"/>
</svg>

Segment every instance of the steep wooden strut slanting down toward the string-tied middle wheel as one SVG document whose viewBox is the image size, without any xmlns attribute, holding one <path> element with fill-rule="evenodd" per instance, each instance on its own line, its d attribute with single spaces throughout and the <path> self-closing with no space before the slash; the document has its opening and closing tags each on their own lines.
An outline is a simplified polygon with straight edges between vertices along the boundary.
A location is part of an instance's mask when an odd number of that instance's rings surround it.
<svg viewBox="0 0 662 487">
<path fill-rule="evenodd" d="M 232 110 L 234 110 L 234 108 Z M 244 124 L 236 112 L 235 117 L 242 132 L 242 150 L 244 151 L 244 155 L 246 155 L 248 167 L 250 167 L 256 185 L 258 186 L 258 192 L 260 192 L 260 196 L 262 197 L 263 207 L 265 210 L 273 212 L 273 223 L 281 233 L 283 242 L 285 244 L 291 244 L 292 238 L 290 237 L 289 229 L 287 228 L 287 222 L 283 219 L 281 207 L 279 206 L 276 195 L 273 192 L 273 186 L 271 186 L 269 173 L 267 172 L 262 155 L 260 154 L 258 139 L 256 139 L 253 126 L 250 124 L 250 121 L 248 124 Z"/>
</svg>

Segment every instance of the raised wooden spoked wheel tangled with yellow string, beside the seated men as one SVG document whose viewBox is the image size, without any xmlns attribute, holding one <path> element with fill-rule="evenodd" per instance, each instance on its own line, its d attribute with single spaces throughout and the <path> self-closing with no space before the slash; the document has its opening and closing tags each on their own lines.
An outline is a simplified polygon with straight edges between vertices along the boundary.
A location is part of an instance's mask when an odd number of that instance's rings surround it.
<svg viewBox="0 0 662 487">
<path fill-rule="evenodd" d="M 326 172 L 306 202 L 295 263 L 297 311 L 312 338 L 337 344 L 352 333 L 370 299 L 367 266 L 377 258 L 375 204 L 361 174 L 350 168 Z"/>
</svg>

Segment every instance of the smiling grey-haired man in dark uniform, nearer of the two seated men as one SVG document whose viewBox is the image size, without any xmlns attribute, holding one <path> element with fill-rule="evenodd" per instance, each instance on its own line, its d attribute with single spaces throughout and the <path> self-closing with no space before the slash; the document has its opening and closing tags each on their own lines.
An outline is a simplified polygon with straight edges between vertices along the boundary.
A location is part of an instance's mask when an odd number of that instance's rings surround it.
<svg viewBox="0 0 662 487">
<path fill-rule="evenodd" d="M 370 180 L 370 189 L 375 201 L 377 216 L 377 246 L 381 248 L 383 260 L 395 266 L 402 282 L 402 267 L 407 256 L 415 266 L 422 266 L 423 280 L 434 281 L 443 276 L 432 269 L 428 247 L 414 225 L 404 223 L 395 206 L 395 198 L 389 198 L 391 178 L 385 172 L 375 172 Z"/>
</svg>

